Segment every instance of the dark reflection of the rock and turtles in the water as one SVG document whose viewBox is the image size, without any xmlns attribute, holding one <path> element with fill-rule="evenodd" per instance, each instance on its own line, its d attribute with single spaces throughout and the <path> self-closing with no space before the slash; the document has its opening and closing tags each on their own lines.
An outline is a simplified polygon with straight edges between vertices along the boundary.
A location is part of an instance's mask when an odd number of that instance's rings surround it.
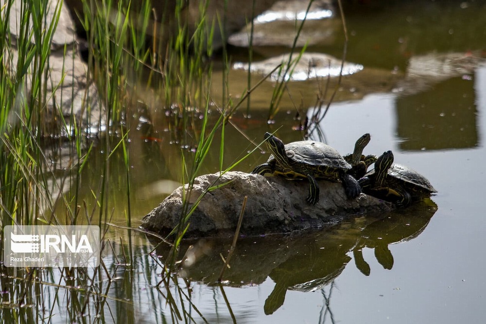
<svg viewBox="0 0 486 324">
<path fill-rule="evenodd" d="M 242 287 L 263 283 L 270 277 L 275 287 L 263 306 L 265 314 L 283 305 L 287 290 L 315 291 L 330 284 L 351 261 L 369 275 L 364 248 L 374 249 L 384 269 L 392 269 L 393 255 L 388 245 L 402 243 L 424 231 L 437 206 L 430 199 L 386 216 L 364 216 L 319 232 L 240 238 L 226 269 L 224 283 Z M 186 253 L 179 274 L 192 281 L 214 285 L 231 245 L 230 239 L 184 242 Z M 157 251 L 167 255 L 167 251 Z M 182 253 L 181 253 L 182 254 Z"/>
</svg>

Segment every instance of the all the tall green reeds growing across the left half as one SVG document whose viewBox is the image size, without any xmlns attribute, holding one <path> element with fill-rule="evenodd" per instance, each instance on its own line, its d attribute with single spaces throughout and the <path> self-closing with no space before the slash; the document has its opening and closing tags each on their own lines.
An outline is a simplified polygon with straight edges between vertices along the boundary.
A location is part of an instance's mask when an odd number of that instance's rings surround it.
<svg viewBox="0 0 486 324">
<path fill-rule="evenodd" d="M 51 316 L 49 310 L 55 305 L 61 305 L 59 291 L 68 291 L 69 321 L 84 321 L 83 316 L 90 311 L 96 313 L 94 318 L 103 322 L 108 319 L 104 313 L 105 307 L 109 307 L 107 300 L 109 292 L 117 286 L 112 280 L 119 269 L 124 267 L 123 281 L 115 289 L 113 297 L 118 302 L 127 299 L 134 300 L 133 280 L 136 273 L 136 264 L 139 256 L 133 251 L 132 240 L 132 185 L 131 185 L 131 156 L 130 137 L 131 131 L 138 123 L 134 111 L 128 109 L 133 103 L 133 93 L 137 91 L 137 80 L 142 75 L 147 75 L 148 85 L 156 78 L 160 79 L 160 92 L 163 93 L 162 104 L 167 110 L 174 110 L 174 117 L 170 121 L 172 129 L 180 129 L 184 143 L 191 143 L 193 152 L 181 148 L 183 165 L 181 166 L 181 180 L 187 183 L 184 195 L 184 208 L 180 215 L 180 222 L 174 229 L 174 250 L 164 261 L 164 267 L 157 268 L 164 272 L 161 282 L 166 290 L 161 292 L 163 299 L 171 308 L 173 322 L 191 322 L 194 309 L 190 293 L 185 293 L 185 287 L 179 285 L 180 278 L 170 273 L 170 269 L 176 260 L 178 245 L 184 237 L 189 226 L 191 215 L 197 207 L 197 203 L 204 194 L 220 186 L 221 183 L 213 183 L 205 192 L 195 199 L 195 203 L 189 203 L 194 179 L 200 175 L 210 148 L 215 144 L 217 137 L 221 138 L 219 146 L 219 171 L 220 174 L 231 170 L 244 161 L 244 156 L 238 161 L 225 163 L 224 145 L 226 127 L 230 126 L 229 118 L 243 105 L 245 100 L 249 103 L 251 92 L 258 87 L 263 79 L 250 88 L 251 76 L 248 72 L 248 89 L 242 90 L 241 99 L 234 102 L 227 91 L 231 58 L 226 46 L 223 47 L 222 56 L 224 64 L 223 98 L 221 107 L 216 107 L 211 97 L 213 65 L 213 37 L 217 26 L 223 31 L 223 43 L 227 35 L 225 16 L 209 20 L 208 1 L 199 2 L 199 17 L 194 26 L 189 26 L 189 13 L 186 10 L 187 1 L 175 1 L 174 12 L 170 13 L 174 25 L 157 25 L 153 19 L 150 0 L 142 0 L 137 3 L 139 11 L 134 11 L 134 1 L 130 0 L 83 0 L 83 13 L 79 18 L 87 33 L 88 41 L 88 83 L 94 82 L 100 93 L 100 102 L 104 107 L 98 137 L 99 143 L 91 142 L 88 138 L 90 130 L 86 124 L 79 124 L 75 119 L 62 120 L 59 125 L 63 128 L 64 140 L 69 143 L 69 159 L 66 165 L 67 171 L 62 173 L 62 179 L 57 179 L 57 170 L 49 167 L 50 159 L 45 153 L 43 142 L 56 142 L 50 139 L 48 128 L 43 124 L 43 115 L 46 103 L 51 93 L 46 89 L 47 72 L 49 69 L 49 54 L 51 52 L 52 36 L 58 23 L 62 2 L 59 1 L 55 9 L 54 19 L 46 25 L 47 1 L 31 0 L 16 1 L 21 6 L 20 19 L 17 32 L 9 27 L 9 15 L 13 12 L 14 0 L 5 1 L 1 10 L 0 19 L 0 221 L 1 229 L 8 224 L 57 224 L 57 223 L 95 223 L 102 228 L 102 233 L 108 230 L 110 217 L 115 206 L 110 203 L 108 197 L 110 190 L 117 189 L 117 185 L 123 183 L 124 197 L 120 203 L 125 215 L 127 239 L 120 243 L 108 241 L 105 248 L 112 247 L 111 265 L 105 265 L 94 270 L 84 269 L 40 269 L 12 270 L 8 273 L 10 281 L 0 280 L 1 291 L 7 291 L 9 287 L 15 287 L 15 291 L 9 291 L 8 296 L 2 296 L 2 301 L 7 305 L 26 303 L 26 305 L 43 306 Z M 312 1 L 311 1 L 312 2 Z M 227 6 L 227 2 L 225 2 Z M 162 17 L 162 20 L 166 16 Z M 151 23 L 152 22 L 152 23 Z M 157 21 L 159 22 L 159 21 Z M 303 24 L 303 22 L 302 22 Z M 298 31 L 302 25 L 300 25 Z M 166 28 L 175 28 L 173 37 L 169 38 L 167 46 L 160 45 L 157 35 L 165 35 Z M 192 31 L 192 28 L 194 29 Z M 147 47 L 149 32 L 152 35 L 152 46 Z M 298 37 L 297 32 L 296 37 Z M 17 54 L 14 54 L 14 45 Z M 251 56 L 251 46 L 250 46 Z M 292 53 L 295 53 L 295 43 Z M 66 52 L 67 53 L 67 52 Z M 300 52 L 302 53 L 302 51 Z M 297 58 L 299 55 L 296 55 Z M 18 57 L 14 60 L 13 57 Z M 286 76 L 290 75 L 295 66 L 294 54 L 289 57 L 282 68 L 284 76 L 273 95 L 269 118 L 278 110 L 279 98 L 285 89 Z M 65 60 L 72 57 L 65 57 Z M 276 67 L 278 69 L 279 67 Z M 27 85 L 29 91 L 27 91 Z M 59 85 L 51 85 L 52 89 Z M 218 98 L 219 99 L 219 98 Z M 202 120 L 198 118 L 202 115 Z M 247 104 L 249 114 L 249 104 Z M 136 114 L 135 114 L 136 115 Z M 63 116 L 62 111 L 56 111 L 56 118 Z M 57 122 L 57 120 L 56 120 Z M 89 123 L 87 119 L 87 123 Z M 57 138 L 56 138 L 57 139 Z M 59 140 L 61 142 L 61 140 Z M 59 142 L 56 142 L 59 144 Z M 102 176 L 98 183 L 90 184 L 90 192 L 95 200 L 93 206 L 88 207 L 81 197 L 80 188 L 82 172 L 89 165 L 89 159 L 96 149 L 103 151 Z M 117 170 L 113 160 L 121 156 L 123 168 L 118 171 L 121 176 L 117 179 Z M 121 180 L 120 180 L 121 179 Z M 116 180 L 119 180 L 117 183 Z M 69 191 L 63 190 L 64 182 L 69 182 Z M 56 190 L 53 190 L 53 187 Z M 62 205 L 60 208 L 59 205 Z M 120 206 L 117 206 L 120 207 Z M 63 209 L 64 208 L 64 209 Z M 90 210 L 88 210 L 90 208 Z M 58 210 L 65 210 L 66 215 L 59 217 Z M 96 214 L 96 216 L 94 216 Z M 104 238 L 104 235 L 103 237 Z M 0 243 L 2 244 L 2 243 Z M 148 254 L 148 253 L 147 253 Z M 145 256 L 147 256 L 145 254 Z M 118 258 L 120 255 L 120 258 Z M 144 260 L 146 261 L 146 260 Z M 154 261 L 155 263 L 156 261 Z M 148 262 L 147 262 L 148 265 Z M 4 270 L 2 268 L 2 270 Z M 140 269 L 138 270 L 140 271 Z M 143 271 L 149 271 L 143 269 Z M 167 275 L 167 274 L 171 275 Z M 159 278 L 155 276 L 156 278 Z M 158 280 L 158 279 L 157 279 Z M 172 287 L 177 287 L 172 289 Z M 54 290 L 49 287 L 55 287 Z M 54 292 L 52 292 L 54 291 Z M 47 297 L 45 295 L 48 295 Z M 52 295 L 51 295 L 52 294 Z M 3 295 L 3 294 L 2 294 Z M 175 296 L 175 297 L 174 297 Z M 8 297 L 8 298 L 7 298 Z M 42 298 L 45 297 L 45 298 Z M 178 302 L 177 302 L 178 299 Z M 180 301 L 187 301 L 189 306 L 180 305 Z M 47 302 L 46 302 L 47 301 Z M 108 305 L 108 306 L 107 306 Z M 118 304 L 117 304 L 118 305 Z M 132 304 L 133 305 L 133 304 Z M 64 306 L 64 305 L 62 305 Z M 59 306 L 59 308 L 62 308 Z M 39 308 L 39 307 L 37 307 Z M 43 319 L 45 313 L 35 310 L 36 307 L 21 308 L 12 306 L 4 319 L 20 319 L 24 322 L 35 322 Z M 90 314 L 90 313 L 89 313 Z M 124 314 L 124 313 L 123 313 Z M 201 315 L 199 313 L 199 315 Z M 106 316 L 106 318 L 105 318 Z M 117 319 L 122 316 L 121 312 Z M 123 315 L 124 316 L 124 315 Z M 204 317 L 201 315 L 204 321 Z M 135 317 L 130 320 L 134 321 Z M 166 320 L 164 318 L 164 320 Z"/>
</svg>

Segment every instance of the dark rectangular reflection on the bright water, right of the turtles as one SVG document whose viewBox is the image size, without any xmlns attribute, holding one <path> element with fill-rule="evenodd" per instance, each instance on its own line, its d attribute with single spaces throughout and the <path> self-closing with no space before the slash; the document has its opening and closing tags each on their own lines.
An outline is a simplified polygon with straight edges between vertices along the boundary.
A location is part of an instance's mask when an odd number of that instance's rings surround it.
<svg viewBox="0 0 486 324">
<path fill-rule="evenodd" d="M 472 76 L 470 77 L 472 79 Z M 478 144 L 472 80 L 452 78 L 396 101 L 399 148 L 443 150 Z"/>
</svg>

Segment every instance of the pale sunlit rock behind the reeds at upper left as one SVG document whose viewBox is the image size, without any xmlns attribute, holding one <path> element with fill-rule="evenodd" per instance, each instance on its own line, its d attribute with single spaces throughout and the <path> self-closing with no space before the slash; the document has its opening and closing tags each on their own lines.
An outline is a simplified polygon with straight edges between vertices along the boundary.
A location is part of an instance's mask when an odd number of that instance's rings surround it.
<svg viewBox="0 0 486 324">
<path fill-rule="evenodd" d="M 58 1 L 49 0 L 47 3 L 46 26 L 50 26 L 57 16 L 56 6 Z M 5 60 L 10 66 L 7 69 L 13 74 L 17 67 L 17 37 L 20 30 L 21 1 L 15 0 L 12 4 L 9 15 L 9 27 L 12 37 L 12 49 L 6 54 L 11 56 Z M 32 22 L 30 24 L 32 28 Z M 47 27 L 46 27 L 47 28 Z M 34 38 L 31 40 L 34 42 Z M 46 133 L 55 133 L 58 128 L 65 132 L 64 121 L 60 118 L 63 115 L 68 126 L 76 118 L 76 125 L 97 126 L 103 124 L 103 113 L 98 97 L 98 90 L 93 83 L 87 80 L 87 65 L 84 63 L 77 51 L 77 39 L 74 33 L 74 23 L 66 6 L 62 5 L 59 20 L 54 30 L 51 42 L 51 51 L 46 63 L 47 79 L 43 79 L 43 91 L 46 91 L 47 98 L 45 105 L 47 109 L 42 111 L 41 125 L 44 125 Z M 25 90 L 31 91 L 32 70 L 34 62 L 27 70 L 25 77 Z M 69 131 L 69 129 L 68 129 Z"/>
</svg>

